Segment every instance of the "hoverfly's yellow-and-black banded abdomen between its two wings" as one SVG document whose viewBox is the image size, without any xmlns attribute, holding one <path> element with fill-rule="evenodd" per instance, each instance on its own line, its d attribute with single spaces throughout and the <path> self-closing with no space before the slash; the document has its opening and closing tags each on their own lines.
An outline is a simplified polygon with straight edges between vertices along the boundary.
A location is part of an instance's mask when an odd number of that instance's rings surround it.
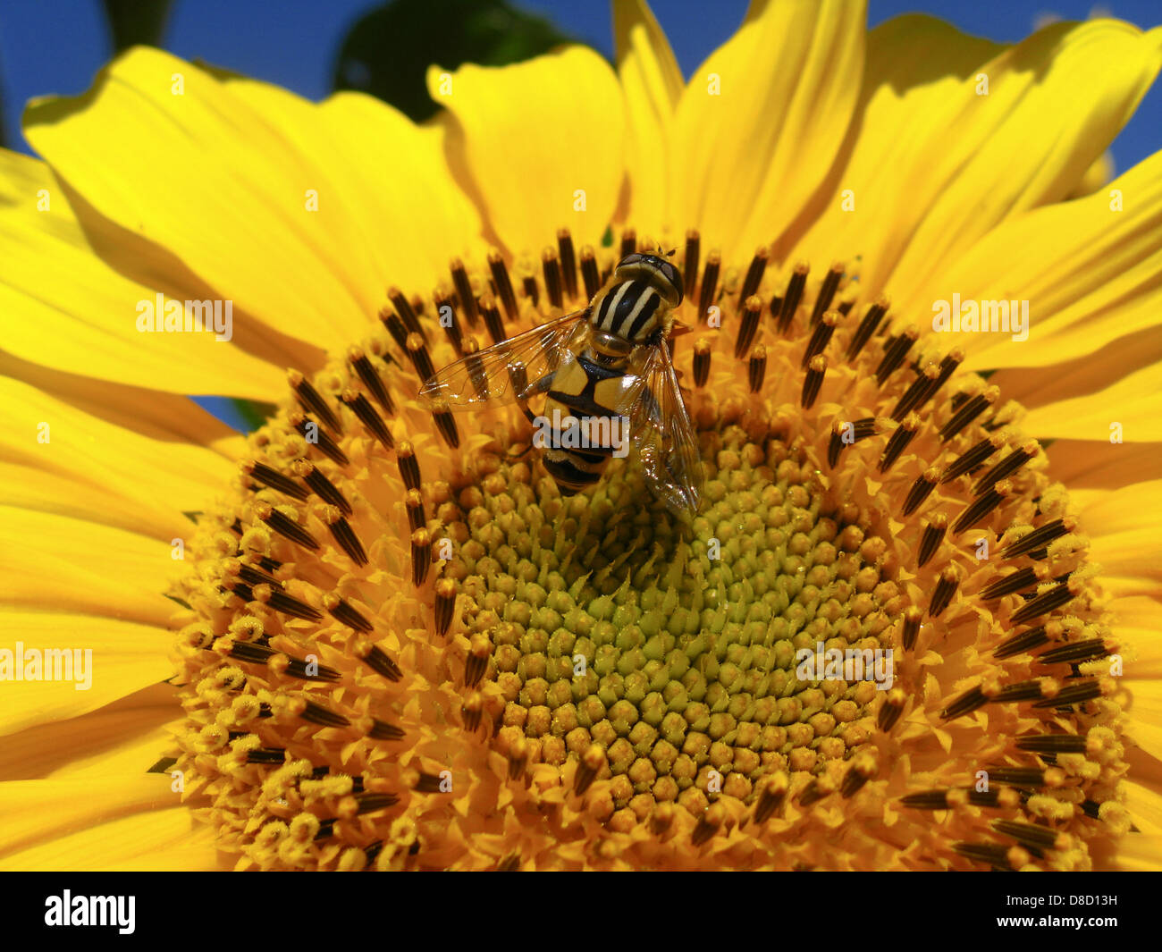
<svg viewBox="0 0 1162 952">
<path fill-rule="evenodd" d="M 612 402 L 609 398 L 619 393 L 624 377 L 622 370 L 579 355 L 561 368 L 546 394 L 543 413 L 550 425 L 541 459 L 564 495 L 597 482 L 616 449 L 611 437 L 621 434 L 625 438 L 617 411 L 603 402 Z M 576 443 L 576 432 L 569 435 L 558 423 L 571 417 L 578 421 L 578 432 L 586 434 L 589 445 L 569 445 Z"/>
</svg>

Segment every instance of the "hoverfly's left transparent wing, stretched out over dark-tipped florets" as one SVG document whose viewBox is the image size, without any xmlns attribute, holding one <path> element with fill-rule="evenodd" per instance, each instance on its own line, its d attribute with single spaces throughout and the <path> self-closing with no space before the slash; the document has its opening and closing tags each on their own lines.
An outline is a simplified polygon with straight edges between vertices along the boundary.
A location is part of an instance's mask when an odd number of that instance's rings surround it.
<svg viewBox="0 0 1162 952">
<path fill-rule="evenodd" d="M 553 374 L 589 332 L 589 310 L 578 310 L 449 364 L 419 388 L 429 403 L 468 409 L 512 402 L 548 389 Z"/>
</svg>

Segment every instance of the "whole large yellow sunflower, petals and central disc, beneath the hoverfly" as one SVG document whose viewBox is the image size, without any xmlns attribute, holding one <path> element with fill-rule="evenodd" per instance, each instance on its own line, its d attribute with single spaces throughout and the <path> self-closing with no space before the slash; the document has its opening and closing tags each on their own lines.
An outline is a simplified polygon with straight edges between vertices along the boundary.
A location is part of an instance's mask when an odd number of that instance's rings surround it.
<svg viewBox="0 0 1162 952">
<path fill-rule="evenodd" d="M 5 868 L 1162 865 L 1162 153 L 1103 176 L 1162 31 L 615 28 L 425 126 L 141 48 L 29 106 Z M 694 517 L 416 400 L 654 248 Z"/>
</svg>

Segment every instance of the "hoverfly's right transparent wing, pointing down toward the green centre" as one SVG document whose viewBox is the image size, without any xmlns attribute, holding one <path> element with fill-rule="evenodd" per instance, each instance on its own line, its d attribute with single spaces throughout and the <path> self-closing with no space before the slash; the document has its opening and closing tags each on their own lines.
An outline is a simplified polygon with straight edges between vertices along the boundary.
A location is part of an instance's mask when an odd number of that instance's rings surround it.
<svg viewBox="0 0 1162 952">
<path fill-rule="evenodd" d="M 622 415 L 630 418 L 630 443 L 653 491 L 674 513 L 698 511 L 702 459 L 694 423 L 677 386 L 665 343 L 643 348 Z"/>
</svg>

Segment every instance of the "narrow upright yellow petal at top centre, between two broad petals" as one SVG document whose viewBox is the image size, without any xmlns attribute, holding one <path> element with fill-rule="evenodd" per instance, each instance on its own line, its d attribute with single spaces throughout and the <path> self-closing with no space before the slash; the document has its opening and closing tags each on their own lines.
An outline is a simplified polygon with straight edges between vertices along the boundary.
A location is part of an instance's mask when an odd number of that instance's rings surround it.
<svg viewBox="0 0 1162 952">
<path fill-rule="evenodd" d="M 625 165 L 630 178 L 627 224 L 662 236 L 673 176 L 670 128 L 682 95 L 682 73 L 645 0 L 616 0 L 614 43 L 629 120 Z"/>
</svg>

